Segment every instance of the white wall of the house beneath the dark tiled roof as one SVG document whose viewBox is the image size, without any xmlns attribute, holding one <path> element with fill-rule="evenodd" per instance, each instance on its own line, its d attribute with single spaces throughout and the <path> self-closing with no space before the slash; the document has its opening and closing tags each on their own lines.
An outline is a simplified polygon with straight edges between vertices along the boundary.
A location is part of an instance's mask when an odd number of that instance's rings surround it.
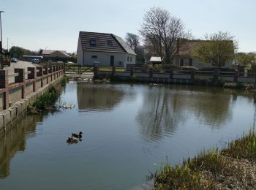
<svg viewBox="0 0 256 190">
<path fill-rule="evenodd" d="M 114 56 L 114 66 L 126 67 L 127 64 L 135 64 L 136 61 L 136 56 L 128 53 L 83 51 L 78 54 L 78 64 L 81 65 L 93 65 L 94 61 L 98 61 L 99 66 L 110 66 L 110 56 Z"/>
</svg>

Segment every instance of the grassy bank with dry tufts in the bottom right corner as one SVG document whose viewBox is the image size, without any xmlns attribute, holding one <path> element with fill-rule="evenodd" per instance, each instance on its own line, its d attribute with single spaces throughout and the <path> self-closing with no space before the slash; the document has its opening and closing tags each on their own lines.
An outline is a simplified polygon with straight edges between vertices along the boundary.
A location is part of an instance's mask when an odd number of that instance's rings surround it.
<svg viewBox="0 0 256 190">
<path fill-rule="evenodd" d="M 155 189 L 255 189 L 256 134 L 250 130 L 222 151 L 198 153 L 182 166 L 159 166 Z M 153 175 L 153 174 L 152 174 Z"/>
</svg>

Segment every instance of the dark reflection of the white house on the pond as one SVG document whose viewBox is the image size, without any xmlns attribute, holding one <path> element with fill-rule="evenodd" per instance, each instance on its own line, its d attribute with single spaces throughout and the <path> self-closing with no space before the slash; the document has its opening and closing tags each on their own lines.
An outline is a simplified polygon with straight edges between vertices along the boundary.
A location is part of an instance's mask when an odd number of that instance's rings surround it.
<svg viewBox="0 0 256 190">
<path fill-rule="evenodd" d="M 124 92 L 114 86 L 79 83 L 77 96 L 79 110 L 110 110 L 121 101 Z"/>
</svg>

